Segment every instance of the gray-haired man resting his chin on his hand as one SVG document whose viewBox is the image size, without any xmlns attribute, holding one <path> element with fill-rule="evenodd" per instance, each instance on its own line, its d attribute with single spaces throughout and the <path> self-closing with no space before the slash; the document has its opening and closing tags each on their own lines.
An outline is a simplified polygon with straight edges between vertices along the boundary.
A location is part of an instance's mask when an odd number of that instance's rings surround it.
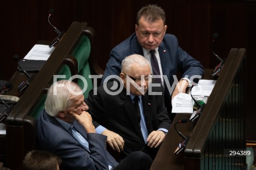
<svg viewBox="0 0 256 170">
<path fill-rule="evenodd" d="M 37 121 L 39 148 L 62 159 L 60 169 L 149 169 L 153 160 L 134 152 L 121 163 L 106 149 L 107 137 L 95 133 L 91 115 L 86 112 L 81 88 L 74 82 L 55 82 Z"/>
</svg>

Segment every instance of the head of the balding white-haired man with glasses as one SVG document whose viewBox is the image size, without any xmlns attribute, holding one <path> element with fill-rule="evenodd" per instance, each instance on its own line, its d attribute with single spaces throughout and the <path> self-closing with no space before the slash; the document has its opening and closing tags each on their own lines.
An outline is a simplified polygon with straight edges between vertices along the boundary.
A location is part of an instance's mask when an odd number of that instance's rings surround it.
<svg viewBox="0 0 256 170">
<path fill-rule="evenodd" d="M 124 83 L 124 88 L 129 90 L 131 94 L 144 95 L 152 82 L 149 62 L 145 57 L 138 54 L 125 57 L 122 61 L 120 77 Z"/>
</svg>

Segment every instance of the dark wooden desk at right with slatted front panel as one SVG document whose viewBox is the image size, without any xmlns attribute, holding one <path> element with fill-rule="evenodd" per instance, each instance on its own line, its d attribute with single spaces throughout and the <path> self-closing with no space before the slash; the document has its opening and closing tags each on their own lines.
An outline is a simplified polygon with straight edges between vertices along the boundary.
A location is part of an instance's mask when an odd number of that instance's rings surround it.
<svg viewBox="0 0 256 170">
<path fill-rule="evenodd" d="M 245 58 L 244 48 L 232 48 L 196 122 L 179 125 L 190 139 L 185 150 L 174 155 L 182 138 L 175 122 L 190 114 L 179 113 L 167 133 L 151 166 L 158 169 L 247 169 L 245 156 L 230 156 L 230 151 L 246 150 L 245 140 Z M 214 79 L 206 70 L 203 79 Z"/>
</svg>

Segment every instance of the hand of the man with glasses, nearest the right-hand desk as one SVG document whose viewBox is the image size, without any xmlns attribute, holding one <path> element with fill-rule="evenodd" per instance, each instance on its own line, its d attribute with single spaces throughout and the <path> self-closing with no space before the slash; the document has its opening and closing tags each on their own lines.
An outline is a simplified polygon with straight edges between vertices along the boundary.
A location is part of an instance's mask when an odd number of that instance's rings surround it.
<svg viewBox="0 0 256 170">
<path fill-rule="evenodd" d="M 147 138 L 148 146 L 150 148 L 153 148 L 153 147 L 156 148 L 162 143 L 164 138 L 165 138 L 165 132 L 160 131 L 160 130 L 153 131 L 148 135 L 148 138 Z"/>
</svg>

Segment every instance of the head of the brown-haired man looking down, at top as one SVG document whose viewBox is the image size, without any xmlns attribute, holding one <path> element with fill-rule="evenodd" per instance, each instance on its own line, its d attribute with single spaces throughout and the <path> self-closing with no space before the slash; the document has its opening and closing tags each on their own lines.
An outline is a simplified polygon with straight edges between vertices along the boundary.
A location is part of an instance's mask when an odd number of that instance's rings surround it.
<svg viewBox="0 0 256 170">
<path fill-rule="evenodd" d="M 156 49 L 163 41 L 167 25 L 165 12 L 157 5 L 142 7 L 137 13 L 135 32 L 139 44 L 145 49 Z"/>
</svg>

